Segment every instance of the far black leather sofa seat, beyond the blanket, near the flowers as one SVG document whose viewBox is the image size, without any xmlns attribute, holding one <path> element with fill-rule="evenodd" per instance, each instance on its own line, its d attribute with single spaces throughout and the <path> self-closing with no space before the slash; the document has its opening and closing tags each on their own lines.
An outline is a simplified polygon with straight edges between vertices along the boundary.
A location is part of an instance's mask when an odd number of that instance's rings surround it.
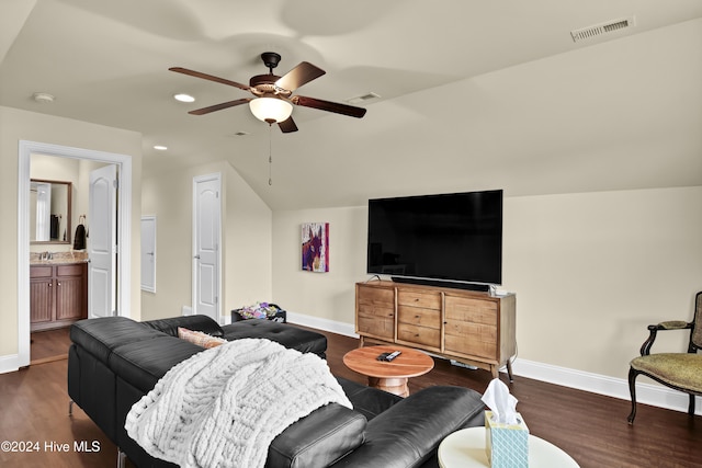
<svg viewBox="0 0 702 468">
<path fill-rule="evenodd" d="M 252 319 L 224 326 L 222 330 L 227 341 L 242 338 L 262 338 L 275 341 L 285 347 L 291 347 L 302 353 L 315 353 L 321 357 L 325 356 L 327 351 L 327 336 L 288 323 Z"/>
</svg>

